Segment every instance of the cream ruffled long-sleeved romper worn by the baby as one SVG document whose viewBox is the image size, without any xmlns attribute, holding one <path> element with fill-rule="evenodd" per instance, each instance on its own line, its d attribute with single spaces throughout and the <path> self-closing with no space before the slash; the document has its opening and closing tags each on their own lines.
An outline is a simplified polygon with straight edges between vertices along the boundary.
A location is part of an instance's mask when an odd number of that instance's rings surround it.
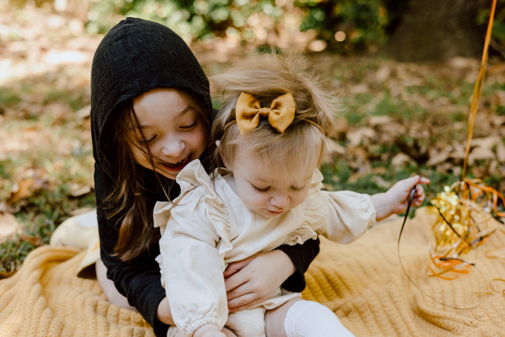
<svg viewBox="0 0 505 337">
<path fill-rule="evenodd" d="M 264 315 L 299 297 L 282 288 L 254 308 L 228 313 L 223 271 L 235 261 L 280 245 L 295 245 L 318 234 L 348 243 L 375 223 L 369 195 L 322 191 L 323 175 L 314 172 L 307 199 L 270 219 L 249 210 L 226 180 L 211 180 L 199 160 L 178 175 L 181 194 L 158 202 L 154 225 L 160 227 L 162 284 L 177 328 L 187 335 L 204 324 L 232 329 L 241 337 L 264 337 Z M 176 327 L 169 329 L 174 336 Z"/>
</svg>

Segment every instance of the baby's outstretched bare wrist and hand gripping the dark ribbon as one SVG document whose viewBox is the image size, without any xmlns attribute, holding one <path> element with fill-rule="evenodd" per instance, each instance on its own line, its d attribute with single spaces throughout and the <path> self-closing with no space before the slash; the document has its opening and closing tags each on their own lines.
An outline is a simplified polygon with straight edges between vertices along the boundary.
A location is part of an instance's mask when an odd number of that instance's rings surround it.
<svg viewBox="0 0 505 337">
<path fill-rule="evenodd" d="M 429 184 L 430 179 L 418 175 L 403 179 L 395 183 L 385 193 L 372 196 L 372 202 L 377 212 L 377 221 L 387 218 L 391 214 L 403 213 L 407 210 L 412 187 L 417 185 L 412 205 L 421 206 L 424 201 L 424 189 L 421 184 Z"/>
</svg>

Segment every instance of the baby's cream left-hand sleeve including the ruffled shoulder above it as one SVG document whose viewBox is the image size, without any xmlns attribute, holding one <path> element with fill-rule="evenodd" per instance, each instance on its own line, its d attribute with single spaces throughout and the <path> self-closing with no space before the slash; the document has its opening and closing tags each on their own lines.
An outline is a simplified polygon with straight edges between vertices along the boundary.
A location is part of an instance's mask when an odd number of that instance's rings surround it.
<svg viewBox="0 0 505 337">
<path fill-rule="evenodd" d="M 180 198 L 173 203 L 158 202 L 154 210 L 154 224 L 162 232 L 157 258 L 162 283 L 172 318 L 187 335 L 205 324 L 223 328 L 228 319 L 223 271 L 224 253 L 231 248 L 226 239 L 229 217 L 226 206 L 210 189 L 209 176 L 198 172 L 203 167 L 195 169 L 199 186 L 182 180 L 194 172 L 181 171 L 177 177 Z"/>
</svg>

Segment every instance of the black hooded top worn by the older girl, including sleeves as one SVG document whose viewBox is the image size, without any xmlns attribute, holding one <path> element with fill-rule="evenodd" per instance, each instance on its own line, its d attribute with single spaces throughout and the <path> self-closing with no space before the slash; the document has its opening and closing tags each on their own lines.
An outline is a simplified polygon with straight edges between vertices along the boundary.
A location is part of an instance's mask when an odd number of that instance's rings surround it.
<svg viewBox="0 0 505 337">
<path fill-rule="evenodd" d="M 169 28 L 151 21 L 127 18 L 114 26 L 98 45 L 91 68 L 91 136 L 95 159 L 95 197 L 100 236 L 100 254 L 107 267 L 107 277 L 118 291 L 138 309 L 158 336 L 166 335 L 168 325 L 156 318 L 160 301 L 166 296 L 160 282 L 160 268 L 155 257 L 159 246 L 123 262 L 113 255 L 119 236 L 119 224 L 125 212 L 107 217 L 104 199 L 113 190 L 115 177 L 109 158 L 113 149 L 110 121 L 118 106 L 155 87 L 179 87 L 192 91 L 205 110 L 213 115 L 209 81 L 186 43 Z M 153 171 L 144 169 L 149 204 L 166 201 Z M 172 195 L 175 194 L 175 195 Z M 171 189 L 175 198 L 176 189 Z M 286 290 L 305 288 L 304 272 L 319 252 L 319 240 L 304 245 L 281 246 L 293 261 L 295 272 L 284 283 Z"/>
</svg>

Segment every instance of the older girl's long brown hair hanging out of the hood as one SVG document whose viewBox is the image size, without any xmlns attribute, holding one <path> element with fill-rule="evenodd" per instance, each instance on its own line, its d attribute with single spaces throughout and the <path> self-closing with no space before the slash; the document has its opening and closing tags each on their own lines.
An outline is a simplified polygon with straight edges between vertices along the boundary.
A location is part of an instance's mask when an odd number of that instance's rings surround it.
<svg viewBox="0 0 505 337">
<path fill-rule="evenodd" d="M 207 142 L 210 133 L 211 112 L 205 112 L 204 105 L 199 99 L 186 90 L 179 89 L 179 93 L 193 108 L 199 121 L 203 124 Z M 136 132 L 137 131 L 137 132 Z M 145 136 L 139 127 L 139 122 L 133 110 L 133 100 L 125 102 L 119 107 L 118 118 L 111 124 L 113 144 L 109 151 L 111 163 L 114 163 L 115 186 L 105 199 L 108 217 L 124 213 L 120 220 L 119 237 L 114 253 L 123 261 L 129 261 L 136 256 L 148 252 L 150 247 L 160 239 L 160 231 L 153 225 L 153 208 L 156 200 L 153 191 L 147 190 L 153 176 L 137 164 L 133 156 L 133 149 L 140 149 L 151 163 L 153 175 L 163 189 L 167 200 L 171 200 L 171 186 L 174 180 L 168 179 L 156 171 L 154 156 L 146 146 Z M 141 136 L 141 141 L 138 139 Z"/>
</svg>

